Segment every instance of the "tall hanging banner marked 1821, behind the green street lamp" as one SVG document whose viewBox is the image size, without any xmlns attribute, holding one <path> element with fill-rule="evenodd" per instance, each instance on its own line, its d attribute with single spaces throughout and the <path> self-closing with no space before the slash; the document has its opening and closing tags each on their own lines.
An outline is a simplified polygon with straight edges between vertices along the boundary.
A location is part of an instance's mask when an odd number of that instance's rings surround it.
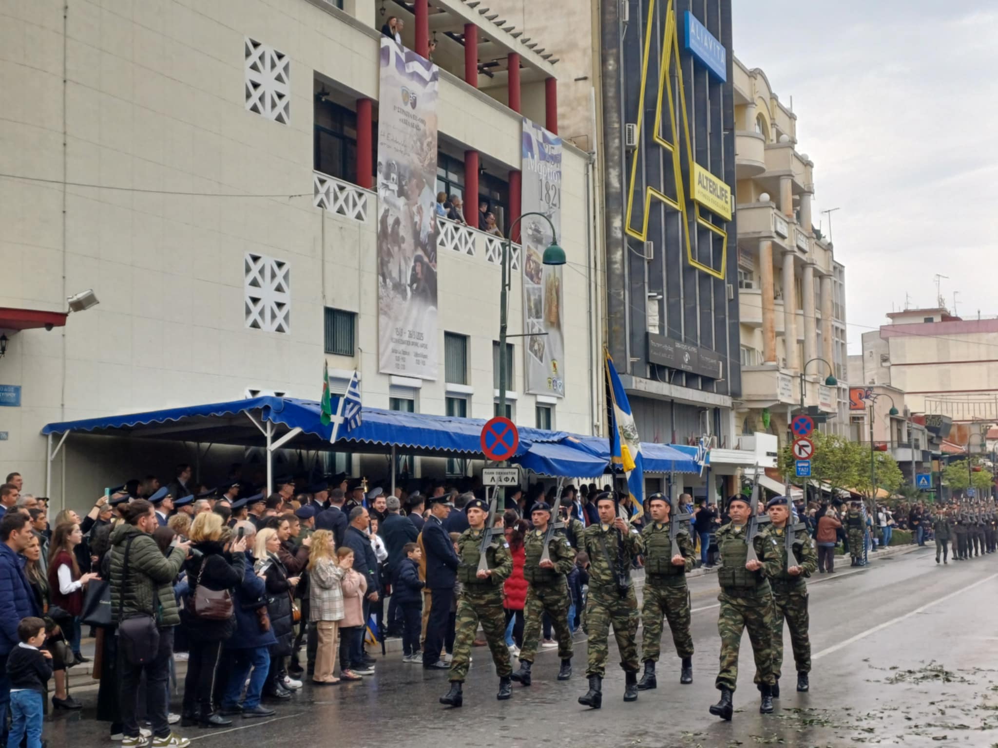
<svg viewBox="0 0 998 748">
<path fill-rule="evenodd" d="M 530 120 L 523 120 L 523 192 L 521 210 L 541 212 L 561 235 L 561 139 Z M 526 392 L 565 396 L 565 339 L 562 268 L 545 265 L 551 226 L 538 215 L 520 222 L 523 246 L 523 332 Z"/>
</svg>

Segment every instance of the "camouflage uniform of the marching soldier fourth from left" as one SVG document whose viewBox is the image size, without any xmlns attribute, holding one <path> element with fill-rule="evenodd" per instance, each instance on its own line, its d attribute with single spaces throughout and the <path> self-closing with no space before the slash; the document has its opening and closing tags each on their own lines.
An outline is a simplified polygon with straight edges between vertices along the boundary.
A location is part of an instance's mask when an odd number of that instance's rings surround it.
<svg viewBox="0 0 998 748">
<path fill-rule="evenodd" d="M 685 523 L 689 527 L 689 523 Z M 641 640 L 641 659 L 658 662 L 662 652 L 662 617 L 669 621 L 673 643 L 680 657 L 693 656 L 690 635 L 690 589 L 686 574 L 693 570 L 695 553 L 690 534 L 684 529 L 676 536 L 683 566 L 673 564 L 673 544 L 669 539 L 670 523 L 653 522 L 641 536 L 645 542 L 645 599 L 641 620 L 645 628 Z"/>
</svg>

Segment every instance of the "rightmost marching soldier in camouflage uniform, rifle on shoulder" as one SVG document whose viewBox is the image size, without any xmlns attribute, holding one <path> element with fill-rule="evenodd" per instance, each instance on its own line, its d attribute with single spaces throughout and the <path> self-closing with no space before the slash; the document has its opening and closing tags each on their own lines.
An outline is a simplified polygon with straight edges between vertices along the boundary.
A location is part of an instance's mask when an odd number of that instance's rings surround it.
<svg viewBox="0 0 998 748">
<path fill-rule="evenodd" d="M 807 582 L 804 579 L 817 568 L 817 552 L 806 530 L 793 535 L 793 555 L 797 563 L 789 565 L 786 553 L 786 523 L 790 509 L 785 496 L 777 496 L 765 505 L 770 525 L 765 534 L 776 542 L 779 572 L 769 579 L 772 587 L 772 697 L 779 697 L 779 676 L 783 665 L 783 619 L 790 629 L 793 663 L 797 668 L 797 690 L 807 691 L 810 672 L 810 637 L 807 616 Z"/>
</svg>

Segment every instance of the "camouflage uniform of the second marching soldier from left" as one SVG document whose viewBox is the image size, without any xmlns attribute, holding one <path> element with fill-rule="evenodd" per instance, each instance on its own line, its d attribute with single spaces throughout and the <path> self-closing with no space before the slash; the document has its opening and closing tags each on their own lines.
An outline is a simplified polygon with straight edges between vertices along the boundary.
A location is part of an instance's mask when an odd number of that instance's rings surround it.
<svg viewBox="0 0 998 748">
<path fill-rule="evenodd" d="M 568 608 L 572 604 L 572 596 L 568 591 L 568 579 L 565 575 L 575 567 L 575 551 L 565 536 L 555 535 L 548 552 L 555 567 L 541 568 L 539 564 L 544 552 L 544 535 L 538 530 L 532 530 L 523 539 L 523 576 L 529 586 L 524 605 L 526 623 L 523 648 L 520 650 L 521 662 L 534 661 L 544 613 L 551 616 L 551 624 L 558 638 L 558 656 L 561 659 L 572 656 L 572 629 L 568 625 Z"/>
</svg>

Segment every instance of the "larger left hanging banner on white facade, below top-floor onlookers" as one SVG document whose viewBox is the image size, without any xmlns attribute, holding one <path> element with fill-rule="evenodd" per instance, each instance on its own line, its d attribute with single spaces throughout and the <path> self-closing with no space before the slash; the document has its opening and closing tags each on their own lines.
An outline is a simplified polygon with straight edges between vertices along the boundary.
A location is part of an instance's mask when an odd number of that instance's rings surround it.
<svg viewBox="0 0 998 748">
<path fill-rule="evenodd" d="M 378 370 L 437 376 L 439 70 L 381 37 L 377 140 Z"/>
</svg>

